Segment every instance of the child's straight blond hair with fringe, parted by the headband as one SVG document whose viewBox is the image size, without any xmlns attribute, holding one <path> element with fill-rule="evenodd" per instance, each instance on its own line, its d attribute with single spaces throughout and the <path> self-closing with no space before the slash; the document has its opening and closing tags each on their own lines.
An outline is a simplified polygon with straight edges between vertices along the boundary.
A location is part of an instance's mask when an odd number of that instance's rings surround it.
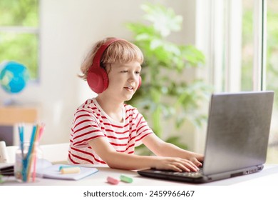
<svg viewBox="0 0 278 200">
<path fill-rule="evenodd" d="M 96 44 L 93 46 L 91 51 L 89 51 L 88 55 L 81 64 L 80 69 L 82 75 L 78 75 L 79 77 L 81 77 L 84 80 L 87 80 L 87 74 L 93 64 L 93 58 L 96 55 L 96 52 L 101 47 L 101 45 L 103 45 L 106 41 L 110 39 L 113 39 L 113 37 L 108 37 L 96 42 Z M 114 41 L 112 44 L 108 46 L 107 49 L 105 49 L 103 55 L 101 56 L 101 67 L 105 69 L 108 64 L 124 64 L 129 63 L 130 61 L 138 61 L 140 64 L 142 64 L 144 61 L 143 53 L 135 44 L 120 39 L 118 41 Z"/>
</svg>

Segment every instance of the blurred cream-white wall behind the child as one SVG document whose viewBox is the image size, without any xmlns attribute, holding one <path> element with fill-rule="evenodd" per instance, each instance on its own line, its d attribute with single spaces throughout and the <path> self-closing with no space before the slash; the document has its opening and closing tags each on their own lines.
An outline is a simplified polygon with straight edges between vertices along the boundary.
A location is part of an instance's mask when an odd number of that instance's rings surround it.
<svg viewBox="0 0 278 200">
<path fill-rule="evenodd" d="M 132 40 L 127 21 L 142 20 L 144 0 L 41 0 L 40 80 L 15 96 L 22 104 L 39 109 L 46 123 L 42 144 L 67 142 L 73 113 L 83 101 L 96 94 L 78 79 L 79 66 L 98 39 L 118 36 Z M 172 7 L 184 18 L 183 29 L 173 41 L 195 43 L 195 1 L 150 1 Z M 9 99 L 0 90 L 0 99 Z M 187 141 L 192 142 L 188 136 Z M 190 145 L 189 145 L 190 146 Z"/>
</svg>

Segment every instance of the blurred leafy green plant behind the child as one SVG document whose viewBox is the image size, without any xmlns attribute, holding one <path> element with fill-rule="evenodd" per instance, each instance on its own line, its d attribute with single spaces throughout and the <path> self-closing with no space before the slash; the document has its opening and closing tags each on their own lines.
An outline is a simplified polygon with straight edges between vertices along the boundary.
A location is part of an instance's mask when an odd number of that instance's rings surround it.
<svg viewBox="0 0 278 200">
<path fill-rule="evenodd" d="M 163 121 L 174 119 L 175 129 L 180 129 L 185 121 L 200 126 L 206 119 L 198 110 L 206 99 L 207 84 L 183 78 L 187 70 L 201 67 L 205 56 L 195 46 L 175 44 L 168 39 L 173 31 L 181 30 L 182 16 L 173 9 L 161 4 L 143 4 L 141 9 L 145 11 L 143 19 L 150 23 L 126 24 L 145 57 L 142 84 L 128 103 L 140 110 L 160 138 L 186 149 L 179 142 L 180 136 L 171 134 L 164 138 Z"/>
</svg>

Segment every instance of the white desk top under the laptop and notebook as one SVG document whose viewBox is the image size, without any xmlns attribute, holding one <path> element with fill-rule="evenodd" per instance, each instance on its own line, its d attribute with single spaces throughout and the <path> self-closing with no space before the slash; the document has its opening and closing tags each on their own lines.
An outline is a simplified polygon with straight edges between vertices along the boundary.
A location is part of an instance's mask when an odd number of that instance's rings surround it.
<svg viewBox="0 0 278 200">
<path fill-rule="evenodd" d="M 4 183 L 1 186 L 110 186 L 106 181 L 108 176 L 119 178 L 120 174 L 133 178 L 133 183 L 121 182 L 119 186 L 278 186 L 278 164 L 266 164 L 260 172 L 245 176 L 237 176 L 231 179 L 214 181 L 207 184 L 189 184 L 177 181 L 165 181 L 160 179 L 150 179 L 137 174 L 136 171 L 127 171 L 119 169 L 110 169 L 108 166 L 96 165 L 98 169 L 96 174 L 92 174 L 79 181 L 66 181 L 56 179 L 36 179 L 35 182 L 19 183 L 14 176 L 4 177 Z"/>
</svg>

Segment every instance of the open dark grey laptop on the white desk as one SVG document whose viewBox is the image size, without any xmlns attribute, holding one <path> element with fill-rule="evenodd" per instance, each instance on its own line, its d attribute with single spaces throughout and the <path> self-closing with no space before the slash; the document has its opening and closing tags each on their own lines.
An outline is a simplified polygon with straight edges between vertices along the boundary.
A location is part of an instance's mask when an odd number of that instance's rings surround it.
<svg viewBox="0 0 278 200">
<path fill-rule="evenodd" d="M 197 172 L 143 169 L 138 174 L 206 183 L 261 171 L 267 157 L 273 98 L 273 91 L 212 94 L 202 169 Z"/>
</svg>

